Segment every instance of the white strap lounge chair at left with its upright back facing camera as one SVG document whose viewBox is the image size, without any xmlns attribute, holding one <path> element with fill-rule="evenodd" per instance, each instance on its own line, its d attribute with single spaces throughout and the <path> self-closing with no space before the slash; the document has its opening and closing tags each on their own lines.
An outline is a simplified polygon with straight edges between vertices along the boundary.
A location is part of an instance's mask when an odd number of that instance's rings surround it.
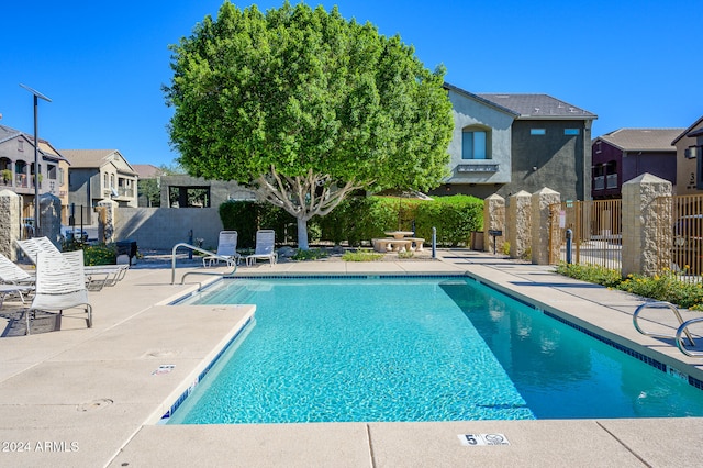
<svg viewBox="0 0 703 468">
<path fill-rule="evenodd" d="M 26 311 L 26 334 L 31 333 L 30 319 L 36 311 L 56 312 L 66 309 L 86 311 L 86 323 L 92 327 L 92 307 L 88 300 L 83 250 L 67 252 L 60 257 L 40 252 L 36 255 L 36 288 L 32 305 Z"/>
</svg>

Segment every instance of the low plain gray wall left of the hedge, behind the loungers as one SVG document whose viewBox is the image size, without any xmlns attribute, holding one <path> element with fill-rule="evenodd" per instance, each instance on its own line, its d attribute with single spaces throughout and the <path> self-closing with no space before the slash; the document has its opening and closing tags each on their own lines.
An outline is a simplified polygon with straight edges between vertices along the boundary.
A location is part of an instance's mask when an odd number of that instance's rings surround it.
<svg viewBox="0 0 703 468">
<path fill-rule="evenodd" d="M 115 210 L 115 241 L 135 241 L 138 248 L 171 249 L 202 238 L 204 248 L 216 248 L 222 221 L 216 208 L 126 208 Z"/>
</svg>

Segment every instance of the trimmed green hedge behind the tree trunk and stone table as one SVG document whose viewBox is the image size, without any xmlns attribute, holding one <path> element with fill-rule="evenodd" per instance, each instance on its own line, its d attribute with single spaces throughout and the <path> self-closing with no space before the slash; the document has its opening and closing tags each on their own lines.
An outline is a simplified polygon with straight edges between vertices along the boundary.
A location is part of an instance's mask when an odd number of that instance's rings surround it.
<svg viewBox="0 0 703 468">
<path fill-rule="evenodd" d="M 238 244 L 255 245 L 257 229 L 276 231 L 278 243 L 295 243 L 297 220 L 284 210 L 266 202 L 227 201 L 220 205 L 225 230 L 236 230 Z M 414 200 L 392 197 L 353 197 L 344 200 L 326 216 L 308 223 L 309 242 L 320 241 L 360 246 L 371 238 L 386 237 L 386 231 L 415 231 L 417 237 L 432 238 L 437 229 L 437 244 L 469 245 L 471 232 L 481 231 L 483 200 L 469 196 Z"/>
</svg>

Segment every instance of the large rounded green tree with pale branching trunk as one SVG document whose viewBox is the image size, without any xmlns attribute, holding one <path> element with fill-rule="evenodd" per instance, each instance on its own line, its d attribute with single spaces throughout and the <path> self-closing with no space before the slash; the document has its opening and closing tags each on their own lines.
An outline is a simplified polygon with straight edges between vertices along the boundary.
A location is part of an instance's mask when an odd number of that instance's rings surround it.
<svg viewBox="0 0 703 468">
<path fill-rule="evenodd" d="M 306 223 L 356 189 L 427 190 L 446 175 L 451 104 L 395 35 L 335 7 L 225 1 L 171 46 L 169 132 L 189 174 L 236 180 Z"/>
</svg>

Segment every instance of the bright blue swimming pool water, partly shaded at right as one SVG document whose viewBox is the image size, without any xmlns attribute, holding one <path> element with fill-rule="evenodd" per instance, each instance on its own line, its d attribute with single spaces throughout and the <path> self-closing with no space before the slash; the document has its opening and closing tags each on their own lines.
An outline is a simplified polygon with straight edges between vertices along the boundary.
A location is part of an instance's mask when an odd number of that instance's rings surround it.
<svg viewBox="0 0 703 468">
<path fill-rule="evenodd" d="M 169 424 L 703 415 L 703 392 L 467 278 L 237 279 L 255 303 Z"/>
</svg>

